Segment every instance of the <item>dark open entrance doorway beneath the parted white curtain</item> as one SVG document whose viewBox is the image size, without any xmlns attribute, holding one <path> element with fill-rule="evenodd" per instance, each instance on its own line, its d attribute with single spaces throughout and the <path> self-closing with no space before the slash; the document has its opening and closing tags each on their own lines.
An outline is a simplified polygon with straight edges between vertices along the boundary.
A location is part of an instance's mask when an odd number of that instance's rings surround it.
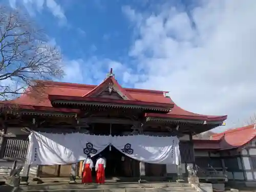
<svg viewBox="0 0 256 192">
<path fill-rule="evenodd" d="M 134 177 L 136 174 L 133 171 L 134 164 L 138 164 L 136 160 L 127 157 L 119 152 L 114 146 L 106 147 L 101 153 L 102 157 L 106 159 L 105 177 Z M 94 165 L 96 164 L 99 155 L 92 157 Z M 133 168 L 134 167 L 134 168 Z M 93 173 L 95 174 L 95 172 Z"/>
</svg>

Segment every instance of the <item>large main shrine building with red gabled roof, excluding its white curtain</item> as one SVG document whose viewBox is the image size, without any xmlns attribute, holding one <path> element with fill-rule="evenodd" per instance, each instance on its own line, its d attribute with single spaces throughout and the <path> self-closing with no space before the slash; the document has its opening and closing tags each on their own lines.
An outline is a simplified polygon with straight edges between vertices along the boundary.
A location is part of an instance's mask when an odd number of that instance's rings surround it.
<svg viewBox="0 0 256 192">
<path fill-rule="evenodd" d="M 145 163 L 146 177 L 177 175 L 179 166 L 185 175 L 185 167 L 196 163 L 193 136 L 223 125 L 227 118 L 226 115 L 209 116 L 185 111 L 165 91 L 123 88 L 112 70 L 98 86 L 53 81 L 42 83 L 45 88 L 40 96 L 35 96 L 32 91 L 3 102 L 0 161 L 9 163 L 10 167 L 13 160 L 25 163 L 28 130 L 113 136 L 141 134 L 177 136 L 180 141 L 178 168 L 177 165 Z M 8 111 L 7 105 L 15 106 L 16 110 L 9 107 Z M 106 168 L 106 177 L 139 177 L 139 161 L 121 154 L 114 147 L 112 150 L 106 148 L 102 154 L 109 167 Z M 81 162 L 75 165 L 37 165 L 29 169 L 31 177 L 70 177 L 72 174 L 81 176 Z"/>
</svg>

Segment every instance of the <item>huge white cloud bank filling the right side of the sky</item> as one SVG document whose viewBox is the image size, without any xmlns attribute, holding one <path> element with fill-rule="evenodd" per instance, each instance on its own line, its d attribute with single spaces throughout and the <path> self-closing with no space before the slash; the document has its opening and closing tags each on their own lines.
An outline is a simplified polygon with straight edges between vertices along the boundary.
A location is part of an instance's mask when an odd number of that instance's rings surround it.
<svg viewBox="0 0 256 192">
<path fill-rule="evenodd" d="M 122 10 L 139 34 L 130 55 L 147 75 L 136 87 L 170 91 L 195 113 L 227 114 L 228 127 L 256 112 L 256 1 L 203 1 L 192 20 L 172 5 L 150 16 Z"/>
</svg>

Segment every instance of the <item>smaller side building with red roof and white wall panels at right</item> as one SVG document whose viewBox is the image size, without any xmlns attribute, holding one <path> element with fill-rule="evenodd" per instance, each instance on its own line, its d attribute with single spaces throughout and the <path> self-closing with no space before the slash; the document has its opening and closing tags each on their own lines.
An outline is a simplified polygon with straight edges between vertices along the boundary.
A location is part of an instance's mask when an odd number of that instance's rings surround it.
<svg viewBox="0 0 256 192">
<path fill-rule="evenodd" d="M 228 182 L 256 186 L 256 125 L 251 124 L 194 139 L 195 163 L 203 170 L 223 171 Z"/>
</svg>

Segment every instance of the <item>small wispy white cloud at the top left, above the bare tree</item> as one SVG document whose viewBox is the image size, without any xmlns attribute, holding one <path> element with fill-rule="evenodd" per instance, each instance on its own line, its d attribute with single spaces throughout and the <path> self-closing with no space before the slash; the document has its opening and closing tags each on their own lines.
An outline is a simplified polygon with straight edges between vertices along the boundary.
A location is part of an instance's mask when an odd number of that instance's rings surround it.
<svg viewBox="0 0 256 192">
<path fill-rule="evenodd" d="M 54 17 L 58 18 L 60 24 L 67 22 L 64 10 L 55 0 L 9 0 L 9 4 L 12 8 L 23 5 L 30 15 L 34 15 L 35 12 L 40 12 L 47 8 Z"/>
</svg>

